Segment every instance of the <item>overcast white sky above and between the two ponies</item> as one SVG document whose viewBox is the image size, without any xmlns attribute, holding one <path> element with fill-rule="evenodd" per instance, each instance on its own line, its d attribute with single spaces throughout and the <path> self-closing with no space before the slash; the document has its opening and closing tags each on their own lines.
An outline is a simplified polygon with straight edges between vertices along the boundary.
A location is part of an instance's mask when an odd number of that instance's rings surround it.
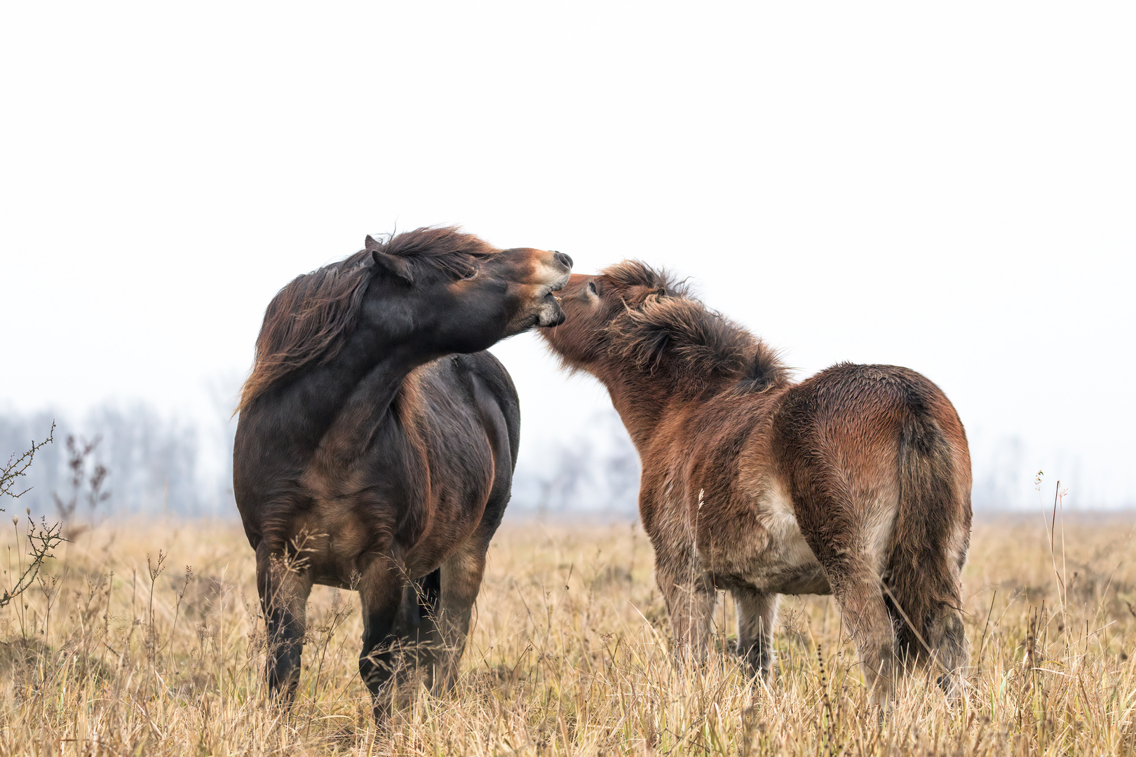
<svg viewBox="0 0 1136 757">
<path fill-rule="evenodd" d="M 1136 504 L 1131 3 L 3 3 L 0 406 L 195 414 L 265 305 L 461 224 L 691 276 Z M 524 464 L 607 404 L 500 345 Z M 225 377 L 228 377 L 227 379 Z M 232 386 L 235 394 L 236 386 Z M 1034 499 L 1030 499 L 1034 498 Z"/>
</svg>

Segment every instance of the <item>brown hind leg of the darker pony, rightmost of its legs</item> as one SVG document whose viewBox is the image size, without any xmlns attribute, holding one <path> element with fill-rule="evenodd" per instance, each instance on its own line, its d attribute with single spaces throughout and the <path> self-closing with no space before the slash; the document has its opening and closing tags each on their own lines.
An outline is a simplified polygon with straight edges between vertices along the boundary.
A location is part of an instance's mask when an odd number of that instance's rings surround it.
<svg viewBox="0 0 1136 757">
<path fill-rule="evenodd" d="M 432 682 L 434 693 L 450 690 L 458 680 L 458 667 L 469 636 L 474 602 L 477 599 L 485 574 L 487 548 L 487 545 L 478 540 L 470 540 L 442 563 L 442 595 L 437 619 L 442 648 L 436 656 Z"/>
</svg>

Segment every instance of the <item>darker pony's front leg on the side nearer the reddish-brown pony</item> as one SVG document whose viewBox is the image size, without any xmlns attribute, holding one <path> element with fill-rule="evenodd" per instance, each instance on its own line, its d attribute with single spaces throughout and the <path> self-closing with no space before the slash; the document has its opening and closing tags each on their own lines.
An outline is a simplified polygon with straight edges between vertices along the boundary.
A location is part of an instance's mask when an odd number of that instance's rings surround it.
<svg viewBox="0 0 1136 757">
<path fill-rule="evenodd" d="M 359 580 L 362 605 L 362 649 L 359 653 L 359 676 L 367 684 L 377 722 L 391 706 L 387 687 L 399 665 L 396 637 L 392 633 L 402 603 L 403 578 L 394 561 L 381 557 Z"/>
</svg>

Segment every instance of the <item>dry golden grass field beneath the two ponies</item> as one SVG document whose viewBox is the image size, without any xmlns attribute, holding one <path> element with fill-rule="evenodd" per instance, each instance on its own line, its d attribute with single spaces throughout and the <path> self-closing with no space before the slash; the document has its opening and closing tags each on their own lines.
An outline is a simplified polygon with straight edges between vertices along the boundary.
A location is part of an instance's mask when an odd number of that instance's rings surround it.
<svg viewBox="0 0 1136 757">
<path fill-rule="evenodd" d="M 830 599 L 783 603 L 768 685 L 724 651 L 728 600 L 708 664 L 682 668 L 642 530 L 507 524 L 457 688 L 419 690 L 379 730 L 354 595 L 316 587 L 284 712 L 261 683 L 240 525 L 118 522 L 64 545 L 0 611 L 0 755 L 1130 755 L 1133 522 L 1067 514 L 1051 549 L 1041 514 L 980 519 L 966 695 L 950 706 L 916 679 L 886 715 L 866 704 Z"/>
</svg>

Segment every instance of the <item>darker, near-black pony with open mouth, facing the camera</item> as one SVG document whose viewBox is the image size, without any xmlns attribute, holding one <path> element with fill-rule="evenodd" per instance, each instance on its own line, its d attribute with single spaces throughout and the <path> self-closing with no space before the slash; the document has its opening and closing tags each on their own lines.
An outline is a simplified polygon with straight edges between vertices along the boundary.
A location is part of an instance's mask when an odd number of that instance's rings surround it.
<svg viewBox="0 0 1136 757">
<path fill-rule="evenodd" d="M 570 266 L 425 228 L 367 237 L 269 303 L 233 491 L 257 550 L 274 692 L 294 692 L 314 583 L 359 591 L 376 715 L 400 647 L 428 663 L 432 688 L 452 683 L 517 462 L 517 392 L 482 351 L 559 323 L 552 292 Z"/>
</svg>

